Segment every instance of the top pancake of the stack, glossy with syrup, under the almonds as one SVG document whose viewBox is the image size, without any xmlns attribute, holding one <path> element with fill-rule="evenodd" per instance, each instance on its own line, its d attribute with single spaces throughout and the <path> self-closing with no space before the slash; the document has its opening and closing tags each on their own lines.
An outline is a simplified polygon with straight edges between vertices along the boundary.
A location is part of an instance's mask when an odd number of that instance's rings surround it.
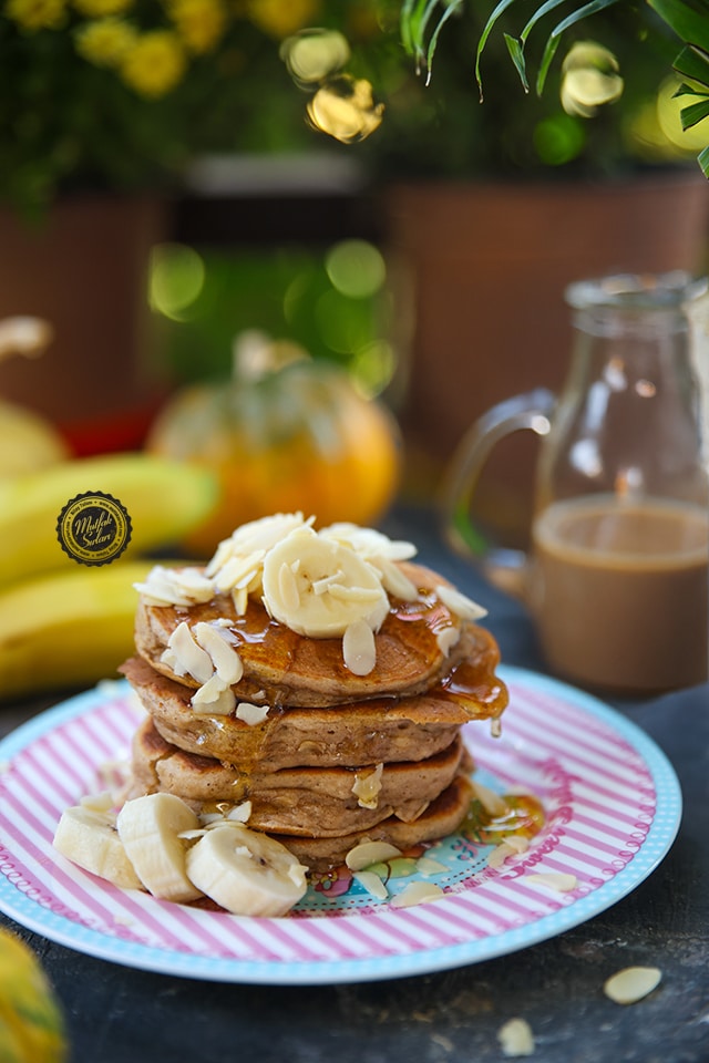
<svg viewBox="0 0 709 1063">
<path fill-rule="evenodd" d="M 263 603 L 249 598 L 244 616 L 237 615 L 229 595 L 191 607 L 147 605 L 138 601 L 135 646 L 138 654 L 157 672 L 196 689 L 189 675 L 176 675 L 162 660 L 168 640 L 182 621 L 219 621 L 244 664 L 240 681 L 233 685 L 237 699 L 274 706 L 322 708 L 382 696 L 411 696 L 433 688 L 465 653 L 467 628 L 484 642 L 487 668 L 481 675 L 482 700 L 500 688 L 494 677 L 499 652 L 492 636 L 461 620 L 436 596 L 446 581 L 430 569 L 411 563 L 399 567 L 418 588 L 413 601 L 391 598 L 389 613 L 377 632 L 377 660 L 367 675 L 350 671 L 342 658 L 342 640 L 312 639 L 297 634 L 273 620 Z M 228 626 L 224 627 L 224 621 Z M 452 648 L 439 639 L 453 628 L 458 639 Z"/>
</svg>

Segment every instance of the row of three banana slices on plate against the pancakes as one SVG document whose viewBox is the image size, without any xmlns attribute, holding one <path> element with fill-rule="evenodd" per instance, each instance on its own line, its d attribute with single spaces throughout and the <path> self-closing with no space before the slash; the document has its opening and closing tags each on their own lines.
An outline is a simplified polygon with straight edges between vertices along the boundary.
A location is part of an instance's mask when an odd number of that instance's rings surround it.
<svg viewBox="0 0 709 1063">
<path fill-rule="evenodd" d="M 275 838 L 236 819 L 205 825 L 174 794 L 135 797 L 117 815 L 107 794 L 86 798 L 63 812 L 54 848 L 115 886 L 209 897 L 239 916 L 284 916 L 307 889 L 307 868 Z"/>
</svg>

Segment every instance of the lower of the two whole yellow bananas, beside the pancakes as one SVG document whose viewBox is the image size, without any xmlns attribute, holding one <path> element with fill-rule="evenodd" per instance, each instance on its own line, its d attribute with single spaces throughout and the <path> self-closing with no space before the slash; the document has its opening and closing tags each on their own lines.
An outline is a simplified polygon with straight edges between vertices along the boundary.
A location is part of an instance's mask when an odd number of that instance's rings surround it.
<svg viewBox="0 0 709 1063">
<path fill-rule="evenodd" d="M 0 700 L 117 679 L 152 561 L 52 572 L 0 591 Z"/>
</svg>

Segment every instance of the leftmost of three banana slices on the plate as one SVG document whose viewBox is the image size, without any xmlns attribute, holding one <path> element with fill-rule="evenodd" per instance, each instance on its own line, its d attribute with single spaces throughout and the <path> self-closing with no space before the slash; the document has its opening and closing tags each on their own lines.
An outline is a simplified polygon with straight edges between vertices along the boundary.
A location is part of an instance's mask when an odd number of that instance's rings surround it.
<svg viewBox="0 0 709 1063">
<path fill-rule="evenodd" d="M 72 864 L 114 886 L 141 889 L 115 826 L 115 815 L 83 805 L 65 808 L 56 825 L 54 848 Z"/>
</svg>

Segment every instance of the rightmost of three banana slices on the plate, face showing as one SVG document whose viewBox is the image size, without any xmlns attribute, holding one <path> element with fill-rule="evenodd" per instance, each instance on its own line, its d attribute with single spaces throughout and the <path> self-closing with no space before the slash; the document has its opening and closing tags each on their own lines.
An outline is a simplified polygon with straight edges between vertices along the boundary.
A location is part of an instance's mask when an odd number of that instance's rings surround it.
<svg viewBox="0 0 709 1063">
<path fill-rule="evenodd" d="M 240 823 L 207 830 L 187 853 L 187 874 L 237 916 L 285 916 L 306 892 L 307 868 L 279 842 Z"/>
</svg>

